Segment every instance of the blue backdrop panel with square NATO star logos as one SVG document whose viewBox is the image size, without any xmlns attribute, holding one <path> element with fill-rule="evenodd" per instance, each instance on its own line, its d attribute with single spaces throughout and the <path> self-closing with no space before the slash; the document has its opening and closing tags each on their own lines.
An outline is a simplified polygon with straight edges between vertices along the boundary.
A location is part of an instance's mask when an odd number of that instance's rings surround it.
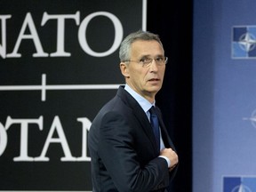
<svg viewBox="0 0 256 192">
<path fill-rule="evenodd" d="M 195 1 L 193 191 L 256 191 L 256 2 Z"/>
</svg>

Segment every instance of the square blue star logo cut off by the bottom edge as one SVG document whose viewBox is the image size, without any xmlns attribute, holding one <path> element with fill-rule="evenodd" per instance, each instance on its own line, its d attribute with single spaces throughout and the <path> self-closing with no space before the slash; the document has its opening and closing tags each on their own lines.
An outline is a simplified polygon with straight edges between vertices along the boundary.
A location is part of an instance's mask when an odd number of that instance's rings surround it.
<svg viewBox="0 0 256 192">
<path fill-rule="evenodd" d="M 224 177 L 223 192 L 256 192 L 256 176 Z"/>
</svg>

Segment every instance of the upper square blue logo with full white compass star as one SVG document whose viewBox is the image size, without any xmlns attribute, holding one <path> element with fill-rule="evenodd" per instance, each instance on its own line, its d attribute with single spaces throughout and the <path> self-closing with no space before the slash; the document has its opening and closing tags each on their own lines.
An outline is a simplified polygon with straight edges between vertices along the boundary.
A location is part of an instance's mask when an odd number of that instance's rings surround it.
<svg viewBox="0 0 256 192">
<path fill-rule="evenodd" d="M 256 26 L 232 28 L 232 58 L 256 59 Z"/>
</svg>

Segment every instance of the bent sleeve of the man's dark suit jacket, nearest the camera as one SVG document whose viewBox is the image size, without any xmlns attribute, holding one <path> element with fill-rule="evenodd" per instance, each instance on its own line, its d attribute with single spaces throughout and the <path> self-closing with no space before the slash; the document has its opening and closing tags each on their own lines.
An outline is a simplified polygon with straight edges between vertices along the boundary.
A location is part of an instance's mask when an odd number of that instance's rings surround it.
<svg viewBox="0 0 256 192">
<path fill-rule="evenodd" d="M 168 165 L 156 157 L 143 165 L 137 161 L 134 137 L 127 120 L 109 112 L 100 124 L 99 155 L 118 191 L 150 191 L 167 187 Z"/>
</svg>

